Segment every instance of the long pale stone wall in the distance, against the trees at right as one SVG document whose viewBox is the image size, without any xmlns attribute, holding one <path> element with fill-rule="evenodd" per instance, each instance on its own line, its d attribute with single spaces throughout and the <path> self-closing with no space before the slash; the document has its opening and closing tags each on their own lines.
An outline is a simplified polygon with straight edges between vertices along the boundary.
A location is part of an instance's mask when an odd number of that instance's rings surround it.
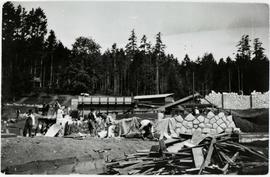
<svg viewBox="0 0 270 177">
<path fill-rule="evenodd" d="M 212 104 L 224 109 L 251 109 L 268 108 L 269 92 L 252 92 L 251 95 L 238 95 L 237 93 L 216 93 L 212 91 L 205 98 Z M 208 104 L 204 99 L 202 104 Z"/>
</svg>

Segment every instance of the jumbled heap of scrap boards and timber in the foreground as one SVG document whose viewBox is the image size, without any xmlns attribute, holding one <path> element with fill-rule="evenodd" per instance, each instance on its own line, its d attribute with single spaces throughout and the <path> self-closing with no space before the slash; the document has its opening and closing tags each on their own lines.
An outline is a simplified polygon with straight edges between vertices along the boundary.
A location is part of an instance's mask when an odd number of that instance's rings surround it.
<svg viewBox="0 0 270 177">
<path fill-rule="evenodd" d="M 106 162 L 106 174 L 266 174 L 268 157 L 239 144 L 232 134 L 160 140 L 150 150 Z"/>
</svg>

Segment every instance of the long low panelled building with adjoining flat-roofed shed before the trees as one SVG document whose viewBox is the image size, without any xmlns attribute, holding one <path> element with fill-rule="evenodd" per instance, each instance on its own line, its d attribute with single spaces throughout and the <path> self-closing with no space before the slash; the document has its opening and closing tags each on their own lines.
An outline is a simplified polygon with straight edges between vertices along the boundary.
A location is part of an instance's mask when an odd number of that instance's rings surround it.
<svg viewBox="0 0 270 177">
<path fill-rule="evenodd" d="M 71 100 L 71 108 L 88 114 L 91 109 L 105 113 L 151 112 L 152 110 L 172 103 L 173 93 L 158 95 L 140 95 L 135 97 L 91 96 L 80 95 Z"/>
</svg>

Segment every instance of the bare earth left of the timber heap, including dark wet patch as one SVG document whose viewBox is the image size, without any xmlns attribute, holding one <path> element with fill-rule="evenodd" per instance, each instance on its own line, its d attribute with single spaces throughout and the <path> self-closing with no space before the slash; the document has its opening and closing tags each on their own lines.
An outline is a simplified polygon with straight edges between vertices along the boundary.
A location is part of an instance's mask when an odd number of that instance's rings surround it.
<svg viewBox="0 0 270 177">
<path fill-rule="evenodd" d="M 82 140 L 61 137 L 1 138 L 1 172 L 7 174 L 102 174 L 105 160 L 124 158 L 155 141 Z"/>
</svg>

